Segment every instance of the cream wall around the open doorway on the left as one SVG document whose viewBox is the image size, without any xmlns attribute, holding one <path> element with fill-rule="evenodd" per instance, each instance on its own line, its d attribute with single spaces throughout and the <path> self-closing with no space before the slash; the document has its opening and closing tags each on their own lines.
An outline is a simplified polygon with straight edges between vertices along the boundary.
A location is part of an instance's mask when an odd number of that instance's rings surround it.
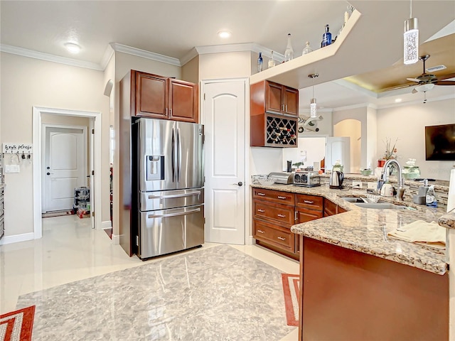
<svg viewBox="0 0 455 341">
<path fill-rule="evenodd" d="M 1 143 L 32 143 L 32 108 L 102 113 L 103 150 L 109 146 L 109 99 L 103 72 L 1 53 Z M 38 146 L 33 146 L 38 148 Z M 109 154 L 109 153 L 107 153 Z M 102 159 L 102 220 L 109 220 L 109 156 Z M 38 160 L 33 160 L 38 162 Z M 5 236 L 33 232 L 32 164 L 5 174 Z"/>
</svg>

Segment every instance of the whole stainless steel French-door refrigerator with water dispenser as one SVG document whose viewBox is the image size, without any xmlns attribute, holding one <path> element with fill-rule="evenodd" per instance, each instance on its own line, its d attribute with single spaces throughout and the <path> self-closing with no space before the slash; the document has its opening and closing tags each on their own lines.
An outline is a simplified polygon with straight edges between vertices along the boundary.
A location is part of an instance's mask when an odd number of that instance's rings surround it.
<svg viewBox="0 0 455 341">
<path fill-rule="evenodd" d="M 133 123 L 133 139 L 137 255 L 148 259 L 200 246 L 203 125 L 141 118 Z"/>
</svg>

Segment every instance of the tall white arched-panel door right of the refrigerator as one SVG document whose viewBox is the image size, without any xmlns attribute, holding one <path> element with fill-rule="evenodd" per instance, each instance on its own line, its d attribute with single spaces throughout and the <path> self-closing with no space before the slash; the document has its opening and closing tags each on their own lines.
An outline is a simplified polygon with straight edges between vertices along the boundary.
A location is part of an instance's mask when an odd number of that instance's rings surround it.
<svg viewBox="0 0 455 341">
<path fill-rule="evenodd" d="M 205 241 L 245 244 L 244 80 L 205 84 Z"/>
</svg>

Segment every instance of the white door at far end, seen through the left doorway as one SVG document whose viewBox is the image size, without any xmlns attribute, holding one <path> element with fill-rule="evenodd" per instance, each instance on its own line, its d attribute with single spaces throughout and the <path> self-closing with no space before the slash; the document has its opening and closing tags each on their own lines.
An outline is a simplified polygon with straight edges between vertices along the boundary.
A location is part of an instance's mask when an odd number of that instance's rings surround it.
<svg viewBox="0 0 455 341">
<path fill-rule="evenodd" d="M 85 129 L 46 127 L 44 212 L 73 208 L 74 189 L 87 185 Z"/>
</svg>

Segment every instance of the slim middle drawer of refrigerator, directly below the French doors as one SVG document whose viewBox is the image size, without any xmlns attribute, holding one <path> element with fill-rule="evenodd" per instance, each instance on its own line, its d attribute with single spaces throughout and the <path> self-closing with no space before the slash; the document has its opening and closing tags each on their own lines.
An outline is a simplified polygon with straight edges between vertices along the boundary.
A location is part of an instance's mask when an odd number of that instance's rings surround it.
<svg viewBox="0 0 455 341">
<path fill-rule="evenodd" d="M 142 192 L 139 193 L 139 202 L 139 210 L 142 212 L 202 205 L 204 203 L 204 189 Z"/>
</svg>

